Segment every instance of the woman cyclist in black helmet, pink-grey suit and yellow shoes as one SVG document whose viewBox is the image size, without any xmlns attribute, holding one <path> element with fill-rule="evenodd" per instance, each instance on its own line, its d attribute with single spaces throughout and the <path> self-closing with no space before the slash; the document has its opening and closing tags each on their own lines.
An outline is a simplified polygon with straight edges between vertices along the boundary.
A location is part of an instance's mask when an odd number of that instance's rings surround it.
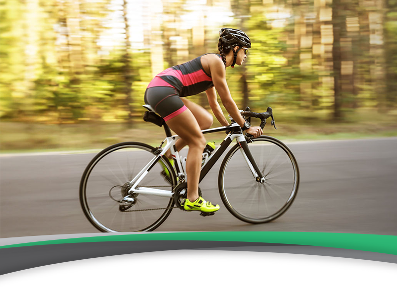
<svg viewBox="0 0 397 298">
<path fill-rule="evenodd" d="M 213 118 L 204 108 L 184 97 L 205 91 L 216 119 L 221 125 L 227 126 L 229 122 L 216 100 L 217 91 L 230 116 L 242 128 L 249 127 L 247 133 L 255 138 L 263 134 L 261 127 L 250 127 L 248 122 L 245 123 L 226 83 L 226 68 L 234 68 L 235 64 L 242 65 L 249 48 L 251 40 L 246 33 L 238 29 L 222 28 L 218 42 L 220 54 L 204 54 L 168 68 L 157 74 L 145 91 L 145 103 L 150 104 L 181 138 L 176 142 L 177 150 L 189 146 L 186 160 L 188 194 L 184 203 L 187 211 L 215 212 L 219 210 L 219 205 L 213 205 L 199 197 L 201 159 L 206 144 L 201 130 L 210 128 Z M 171 157 L 170 151 L 166 156 Z"/>
</svg>

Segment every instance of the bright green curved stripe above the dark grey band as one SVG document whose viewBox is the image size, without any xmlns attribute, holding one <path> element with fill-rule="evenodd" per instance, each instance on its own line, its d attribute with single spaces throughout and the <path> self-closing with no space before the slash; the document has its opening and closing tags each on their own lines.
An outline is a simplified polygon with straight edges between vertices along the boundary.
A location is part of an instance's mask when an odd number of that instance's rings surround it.
<svg viewBox="0 0 397 298">
<path fill-rule="evenodd" d="M 147 240 L 192 240 L 235 241 L 280 244 L 298 244 L 364 250 L 397 255 L 397 236 L 346 233 L 312 232 L 179 232 L 108 235 L 39 241 L 0 246 L 0 248 L 22 247 L 82 242 L 147 241 Z"/>
</svg>

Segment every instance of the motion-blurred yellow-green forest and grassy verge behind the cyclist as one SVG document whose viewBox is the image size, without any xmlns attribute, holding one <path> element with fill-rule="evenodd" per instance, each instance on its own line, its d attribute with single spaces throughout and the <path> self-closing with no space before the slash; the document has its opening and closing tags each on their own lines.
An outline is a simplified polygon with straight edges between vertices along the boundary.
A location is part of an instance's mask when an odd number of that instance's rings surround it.
<svg viewBox="0 0 397 298">
<path fill-rule="evenodd" d="M 251 38 L 227 81 L 273 108 L 265 134 L 397 136 L 397 0 L 0 0 L 0 150 L 157 143 L 147 84 L 217 53 L 221 27 Z"/>
</svg>

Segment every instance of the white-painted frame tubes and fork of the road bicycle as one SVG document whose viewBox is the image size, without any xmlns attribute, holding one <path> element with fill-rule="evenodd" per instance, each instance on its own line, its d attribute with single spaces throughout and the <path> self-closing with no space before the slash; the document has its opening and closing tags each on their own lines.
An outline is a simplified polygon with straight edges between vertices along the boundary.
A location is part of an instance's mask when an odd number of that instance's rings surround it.
<svg viewBox="0 0 397 298">
<path fill-rule="evenodd" d="M 232 124 L 231 126 L 229 126 L 228 128 L 231 127 L 239 127 L 239 125 L 237 123 Z M 211 133 L 211 132 L 216 132 L 219 131 L 219 129 L 225 129 L 226 127 L 218 127 L 218 128 L 213 128 L 213 129 L 207 129 L 207 130 L 202 130 L 202 133 Z M 232 134 L 229 133 L 226 138 L 224 139 L 224 141 L 226 141 L 228 138 L 230 138 L 230 142 L 233 142 L 234 139 L 237 140 L 237 142 L 240 144 L 241 142 L 246 142 L 245 137 L 242 134 Z M 150 171 L 150 169 L 152 168 L 152 166 L 154 165 L 154 163 L 159 161 L 159 158 L 161 158 L 168 149 L 171 150 L 171 154 L 172 157 L 174 159 L 176 159 L 176 163 L 178 165 L 178 169 L 180 170 L 179 173 L 177 173 L 177 177 L 179 179 L 183 179 L 184 177 L 186 177 L 186 170 L 185 168 L 182 166 L 182 162 L 181 162 L 181 158 L 179 156 L 178 151 L 175 151 L 174 149 L 174 145 L 175 142 L 180 139 L 180 137 L 178 135 L 174 135 L 171 137 L 166 138 L 163 143 L 166 143 L 164 148 L 161 150 L 159 155 L 154 156 L 149 163 L 147 163 L 143 169 L 131 180 L 131 183 L 133 183 L 132 187 L 129 190 L 129 193 L 135 193 L 135 194 L 142 194 L 142 195 L 155 195 L 155 196 L 159 196 L 159 197 L 166 197 L 166 198 L 171 198 L 174 193 L 172 191 L 167 191 L 167 190 L 161 190 L 161 189 L 155 189 L 155 188 L 148 188 L 148 187 L 137 187 L 138 184 L 143 180 L 143 178 L 147 175 L 147 173 Z M 208 161 L 213 158 L 215 156 L 215 152 L 219 149 L 220 147 L 217 147 L 215 149 L 214 152 L 212 152 L 212 154 L 209 156 L 209 158 L 206 160 L 205 164 L 208 163 Z M 243 157 L 245 159 L 245 161 L 247 162 L 248 167 L 250 168 L 254 178 L 258 177 L 257 172 L 255 171 L 253 165 L 251 164 L 247 154 L 245 153 L 245 151 L 241 148 L 240 146 L 240 151 L 243 154 Z M 205 165 L 204 164 L 204 165 Z M 203 165 L 203 166 L 204 166 Z"/>
</svg>

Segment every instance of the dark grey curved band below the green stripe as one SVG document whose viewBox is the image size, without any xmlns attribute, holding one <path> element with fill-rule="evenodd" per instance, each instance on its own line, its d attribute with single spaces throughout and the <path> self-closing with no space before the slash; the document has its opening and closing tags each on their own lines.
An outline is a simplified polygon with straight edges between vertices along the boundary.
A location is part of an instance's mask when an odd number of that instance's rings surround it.
<svg viewBox="0 0 397 298">
<path fill-rule="evenodd" d="M 397 263 L 396 255 L 319 246 L 188 240 L 114 241 L 2 248 L 0 249 L 0 275 L 69 261 L 178 249 L 310 254 Z"/>
</svg>

